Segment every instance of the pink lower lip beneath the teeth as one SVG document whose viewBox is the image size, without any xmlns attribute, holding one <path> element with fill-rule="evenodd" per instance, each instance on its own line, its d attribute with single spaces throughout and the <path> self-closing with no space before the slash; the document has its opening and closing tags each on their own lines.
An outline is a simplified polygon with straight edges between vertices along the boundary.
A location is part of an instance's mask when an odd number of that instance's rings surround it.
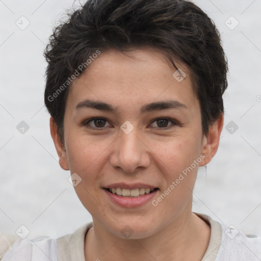
<svg viewBox="0 0 261 261">
<path fill-rule="evenodd" d="M 142 196 L 135 197 L 135 198 L 128 198 L 128 197 L 122 197 L 122 196 L 113 194 L 113 193 L 109 192 L 107 189 L 103 189 L 103 190 L 107 193 L 107 195 L 110 197 L 110 199 L 114 203 L 116 203 L 119 206 L 127 207 L 127 208 L 139 207 L 139 206 L 145 205 L 149 201 L 152 201 L 152 198 L 158 192 L 158 190 L 154 190 L 153 192 L 151 192 L 149 194 L 144 194 Z"/>
</svg>

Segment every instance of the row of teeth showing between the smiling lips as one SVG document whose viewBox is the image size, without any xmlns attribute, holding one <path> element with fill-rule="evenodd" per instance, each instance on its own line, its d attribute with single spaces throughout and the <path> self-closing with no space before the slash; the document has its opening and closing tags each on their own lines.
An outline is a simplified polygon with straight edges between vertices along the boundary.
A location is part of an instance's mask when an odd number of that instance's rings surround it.
<svg viewBox="0 0 261 261">
<path fill-rule="evenodd" d="M 103 188 L 110 192 L 111 194 L 115 194 L 121 197 L 127 197 L 127 198 L 138 198 L 142 197 L 147 194 L 151 194 L 155 192 L 156 190 L 159 190 L 158 188 L 137 188 L 137 189 L 123 189 L 123 188 Z"/>
</svg>

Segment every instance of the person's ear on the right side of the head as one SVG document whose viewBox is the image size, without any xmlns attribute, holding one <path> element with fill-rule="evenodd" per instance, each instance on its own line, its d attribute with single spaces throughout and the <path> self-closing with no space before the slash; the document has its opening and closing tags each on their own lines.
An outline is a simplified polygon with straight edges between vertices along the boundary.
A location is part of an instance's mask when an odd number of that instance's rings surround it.
<svg viewBox="0 0 261 261">
<path fill-rule="evenodd" d="M 216 120 L 213 125 L 209 126 L 208 134 L 203 137 L 203 146 L 201 153 L 205 155 L 205 158 L 200 163 L 201 167 L 209 163 L 215 156 L 218 150 L 223 124 L 224 115 L 220 116 L 220 118 Z"/>
</svg>

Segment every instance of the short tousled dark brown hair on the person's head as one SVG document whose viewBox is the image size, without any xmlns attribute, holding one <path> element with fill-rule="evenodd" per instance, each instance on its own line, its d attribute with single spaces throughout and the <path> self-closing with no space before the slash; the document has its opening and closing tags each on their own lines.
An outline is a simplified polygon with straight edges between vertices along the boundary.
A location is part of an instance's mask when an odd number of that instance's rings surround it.
<svg viewBox="0 0 261 261">
<path fill-rule="evenodd" d="M 214 22 L 198 6 L 182 0 L 87 1 L 54 28 L 44 51 L 45 105 L 62 141 L 70 76 L 97 50 L 137 46 L 164 50 L 176 69 L 173 58 L 189 66 L 203 134 L 224 113 L 227 59 Z"/>
</svg>

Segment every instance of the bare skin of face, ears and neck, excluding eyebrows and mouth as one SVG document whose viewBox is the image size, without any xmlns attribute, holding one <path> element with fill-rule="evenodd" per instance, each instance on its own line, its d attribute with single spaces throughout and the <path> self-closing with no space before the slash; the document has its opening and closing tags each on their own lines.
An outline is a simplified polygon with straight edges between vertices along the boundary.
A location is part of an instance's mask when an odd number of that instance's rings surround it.
<svg viewBox="0 0 261 261">
<path fill-rule="evenodd" d="M 211 229 L 192 213 L 192 191 L 198 167 L 210 162 L 218 149 L 223 116 L 210 126 L 207 136 L 202 135 L 190 72 L 184 64 L 176 64 L 187 74 L 180 83 L 159 51 L 139 48 L 127 55 L 103 51 L 70 86 L 64 144 L 50 119 L 60 166 L 81 176 L 75 191 L 93 218 L 85 238 L 88 261 L 201 260 L 207 249 Z M 110 103 L 117 112 L 76 109 L 85 99 Z M 140 113 L 147 103 L 170 99 L 187 109 Z M 92 117 L 106 121 L 83 124 Z M 165 121 L 161 127 L 157 120 L 163 117 L 176 124 Z M 125 121 L 134 126 L 129 134 L 120 128 Z M 121 207 L 102 189 L 114 182 L 142 182 L 159 188 L 156 199 L 201 154 L 204 159 L 157 206 L 149 202 Z M 130 238 L 121 232 L 126 225 L 133 232 Z"/>
</svg>

